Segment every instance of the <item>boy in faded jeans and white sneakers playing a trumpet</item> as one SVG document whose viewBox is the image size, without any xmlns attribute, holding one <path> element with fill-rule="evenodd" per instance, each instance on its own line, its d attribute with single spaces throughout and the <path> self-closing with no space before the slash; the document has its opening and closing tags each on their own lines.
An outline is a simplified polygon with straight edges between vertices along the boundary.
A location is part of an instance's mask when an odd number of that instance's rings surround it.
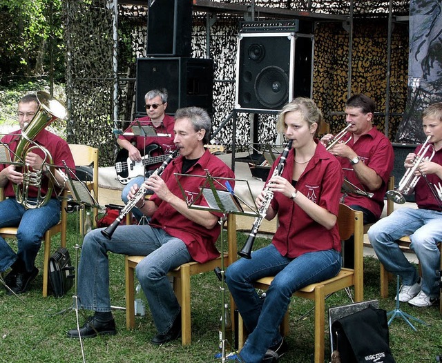
<svg viewBox="0 0 442 363">
<path fill-rule="evenodd" d="M 399 301 L 411 305 L 431 306 L 439 297 L 440 253 L 437 244 L 442 241 L 442 204 L 441 196 L 436 193 L 434 186 L 439 186 L 442 179 L 442 103 L 433 104 L 423 112 L 423 131 L 434 146 L 432 159 L 421 158 L 414 175 L 420 177 L 414 187 L 418 209 L 399 208 L 385 217 L 368 231 L 368 238 L 378 259 L 387 271 L 402 278 Z M 405 168 L 414 168 L 415 153 L 405 158 Z M 432 150 L 426 150 L 425 155 L 431 157 Z M 412 193 L 410 188 L 409 193 Z M 395 243 L 405 235 L 410 235 L 410 248 L 416 253 L 422 269 L 422 278 L 416 268 Z"/>
</svg>

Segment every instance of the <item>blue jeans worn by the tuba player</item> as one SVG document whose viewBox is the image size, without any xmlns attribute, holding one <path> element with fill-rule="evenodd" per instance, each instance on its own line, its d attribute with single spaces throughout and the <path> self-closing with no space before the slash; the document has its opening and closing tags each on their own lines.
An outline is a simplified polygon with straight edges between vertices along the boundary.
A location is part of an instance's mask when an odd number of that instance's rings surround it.
<svg viewBox="0 0 442 363">
<path fill-rule="evenodd" d="M 0 227 L 18 227 L 17 253 L 0 237 L 0 272 L 10 268 L 17 258 L 24 262 L 26 271 L 32 271 L 44 233 L 59 219 L 60 202 L 54 198 L 46 206 L 34 209 L 24 208 L 14 198 L 0 202 Z"/>
</svg>

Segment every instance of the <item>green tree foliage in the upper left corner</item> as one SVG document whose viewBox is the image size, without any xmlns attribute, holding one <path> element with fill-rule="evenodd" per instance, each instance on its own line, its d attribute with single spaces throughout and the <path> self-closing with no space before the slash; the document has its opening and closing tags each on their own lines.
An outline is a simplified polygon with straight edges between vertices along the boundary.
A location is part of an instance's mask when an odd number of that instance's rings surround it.
<svg viewBox="0 0 442 363">
<path fill-rule="evenodd" d="M 61 0 L 0 0 L 0 82 L 54 75 L 64 79 Z"/>
</svg>

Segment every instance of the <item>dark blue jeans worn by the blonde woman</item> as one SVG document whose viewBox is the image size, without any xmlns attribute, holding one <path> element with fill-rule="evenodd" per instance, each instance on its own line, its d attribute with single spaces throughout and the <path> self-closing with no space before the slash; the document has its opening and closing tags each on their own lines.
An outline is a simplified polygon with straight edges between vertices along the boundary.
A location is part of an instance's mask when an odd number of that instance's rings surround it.
<svg viewBox="0 0 442 363">
<path fill-rule="evenodd" d="M 300 288 L 329 279 L 340 271 L 340 253 L 334 250 L 305 253 L 295 259 L 282 256 L 273 244 L 238 259 L 227 268 L 226 282 L 249 331 L 240 351 L 244 362 L 261 362 L 269 346 L 281 340 L 279 326 L 291 295 Z M 261 277 L 275 276 L 264 300 L 253 288 Z"/>
</svg>

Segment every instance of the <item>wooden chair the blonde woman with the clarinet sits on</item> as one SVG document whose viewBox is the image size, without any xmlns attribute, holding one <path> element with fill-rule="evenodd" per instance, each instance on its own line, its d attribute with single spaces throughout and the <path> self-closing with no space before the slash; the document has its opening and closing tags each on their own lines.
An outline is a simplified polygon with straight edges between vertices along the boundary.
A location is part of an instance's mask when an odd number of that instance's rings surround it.
<svg viewBox="0 0 442 363">
<path fill-rule="evenodd" d="M 338 275 L 317 284 L 310 284 L 294 293 L 295 296 L 305 297 L 315 302 L 315 349 L 314 362 L 324 362 L 325 351 L 325 297 L 330 293 L 342 290 L 343 288 L 354 286 L 354 296 L 356 302 L 364 299 L 363 286 L 363 213 L 352 210 L 344 204 L 339 206 L 338 215 L 339 235 L 342 241 L 354 235 L 354 268 L 341 268 Z M 273 277 L 258 279 L 254 284 L 256 288 L 267 290 L 273 281 Z M 244 345 L 244 326 L 242 319 L 238 322 L 238 346 Z M 289 313 L 287 311 L 281 324 L 282 335 L 289 333 Z"/>
</svg>

